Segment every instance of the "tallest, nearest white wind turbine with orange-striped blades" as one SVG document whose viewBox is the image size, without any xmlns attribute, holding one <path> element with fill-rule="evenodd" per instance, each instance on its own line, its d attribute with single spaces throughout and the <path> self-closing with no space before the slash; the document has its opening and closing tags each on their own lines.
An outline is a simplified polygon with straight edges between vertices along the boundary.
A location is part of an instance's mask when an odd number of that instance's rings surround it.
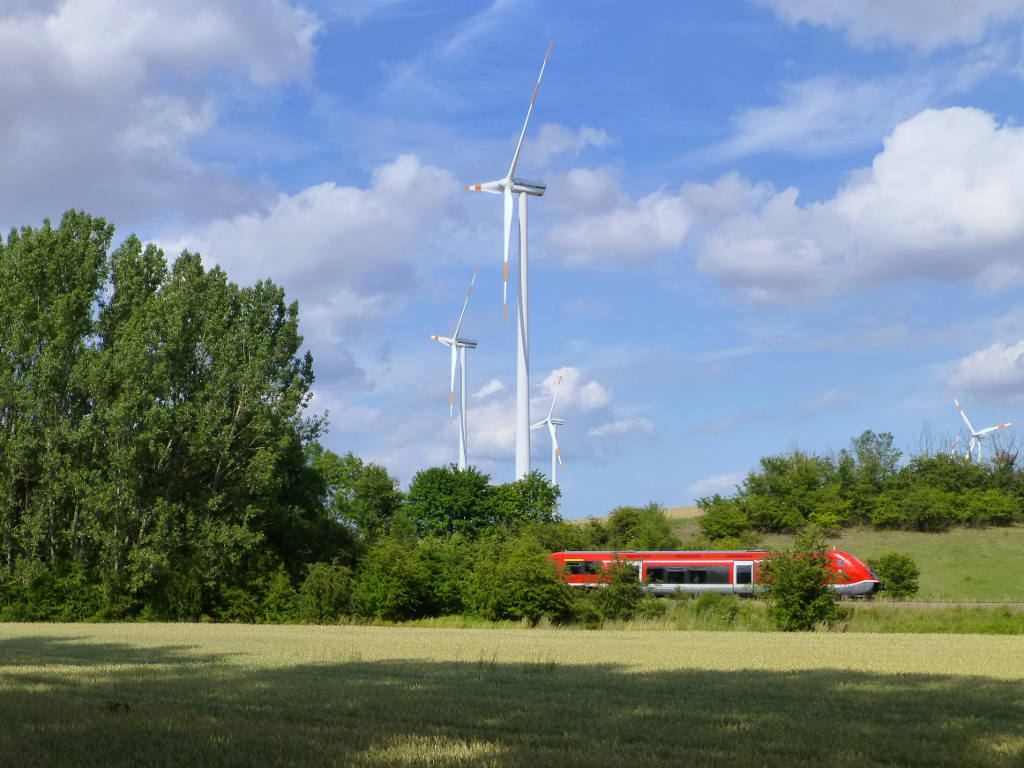
<svg viewBox="0 0 1024 768">
<path fill-rule="evenodd" d="M 498 181 L 487 181 L 482 184 L 467 186 L 467 189 L 474 191 L 486 191 L 494 195 L 502 195 L 505 198 L 505 285 L 503 293 L 505 296 L 505 317 L 508 318 L 508 284 L 509 284 L 509 240 L 512 237 L 512 196 L 519 196 L 519 302 L 518 302 L 518 347 L 516 353 L 516 397 L 515 397 L 515 476 L 516 479 L 529 474 L 529 314 L 527 285 L 527 258 L 526 258 L 526 198 L 530 195 L 541 197 L 548 186 L 543 181 L 528 181 L 518 178 L 515 175 L 515 167 L 519 162 L 519 151 L 522 148 L 522 140 L 526 135 L 526 126 L 529 125 L 529 116 L 534 112 L 534 101 L 537 100 L 537 91 L 541 88 L 541 78 L 544 77 L 544 68 L 548 63 L 548 56 L 551 55 L 551 44 L 548 44 L 548 52 L 544 55 L 544 63 L 541 65 L 541 74 L 537 76 L 537 85 L 534 86 L 534 95 L 529 99 L 529 109 L 526 110 L 526 120 L 522 124 L 522 132 L 519 134 L 519 143 L 516 144 L 515 155 L 512 156 L 512 165 L 509 172 L 503 179 Z"/>
</svg>

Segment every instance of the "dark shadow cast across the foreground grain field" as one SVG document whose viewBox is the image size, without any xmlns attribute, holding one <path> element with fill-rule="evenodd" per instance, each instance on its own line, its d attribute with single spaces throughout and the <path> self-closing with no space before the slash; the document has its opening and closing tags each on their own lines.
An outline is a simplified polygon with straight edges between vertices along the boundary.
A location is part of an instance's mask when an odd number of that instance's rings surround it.
<svg viewBox="0 0 1024 768">
<path fill-rule="evenodd" d="M 19 768 L 1022 761 L 1019 682 L 486 659 L 273 669 L 183 647 L 0 641 L 0 765 Z"/>
</svg>

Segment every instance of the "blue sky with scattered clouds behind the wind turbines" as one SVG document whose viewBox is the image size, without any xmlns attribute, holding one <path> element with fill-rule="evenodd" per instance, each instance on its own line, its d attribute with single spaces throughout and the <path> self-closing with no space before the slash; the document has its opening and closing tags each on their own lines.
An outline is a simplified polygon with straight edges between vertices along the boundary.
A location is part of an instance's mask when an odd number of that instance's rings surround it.
<svg viewBox="0 0 1024 768">
<path fill-rule="evenodd" d="M 465 186 L 552 41 L 517 175 L 565 517 L 865 429 L 948 450 L 953 393 L 1024 422 L 1024 0 L 0 0 L 0 227 L 81 209 L 283 286 L 324 443 L 403 485 L 457 460 L 428 335 L 478 265 L 469 458 L 510 481 L 502 203 Z"/>
</svg>

